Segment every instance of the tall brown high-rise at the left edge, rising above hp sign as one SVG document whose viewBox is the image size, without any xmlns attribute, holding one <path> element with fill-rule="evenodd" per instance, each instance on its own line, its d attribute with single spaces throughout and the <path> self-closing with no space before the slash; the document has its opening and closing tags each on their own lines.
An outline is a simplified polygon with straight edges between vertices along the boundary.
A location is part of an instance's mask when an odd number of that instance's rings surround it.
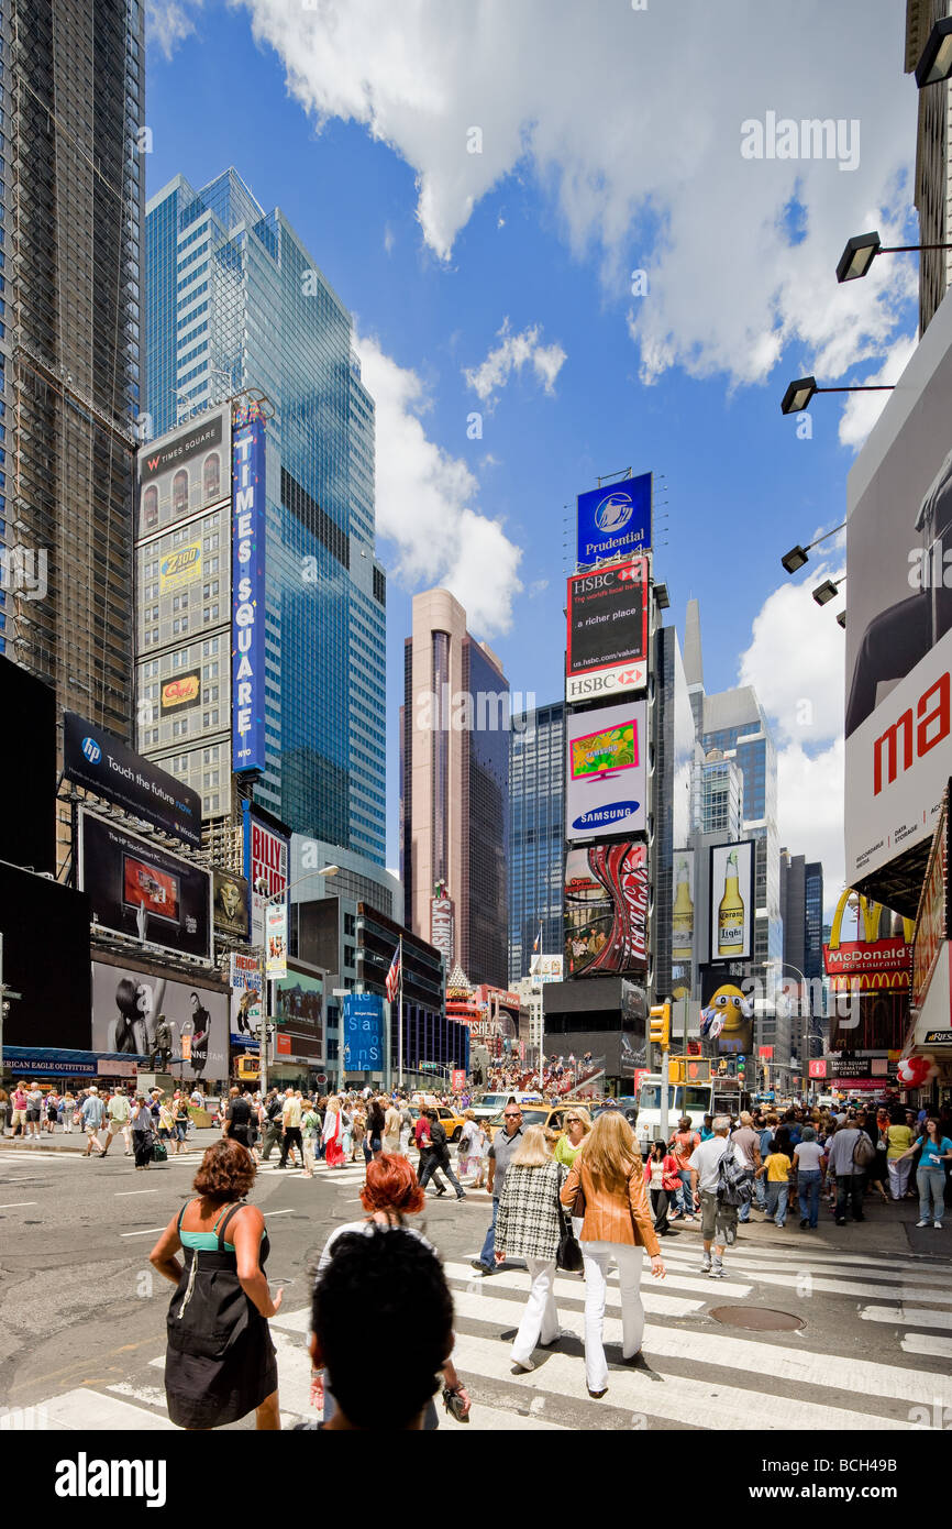
<svg viewBox="0 0 952 1529">
<path fill-rule="evenodd" d="M 0 650 L 125 740 L 142 12 L 134 0 L 0 11 Z"/>
</svg>

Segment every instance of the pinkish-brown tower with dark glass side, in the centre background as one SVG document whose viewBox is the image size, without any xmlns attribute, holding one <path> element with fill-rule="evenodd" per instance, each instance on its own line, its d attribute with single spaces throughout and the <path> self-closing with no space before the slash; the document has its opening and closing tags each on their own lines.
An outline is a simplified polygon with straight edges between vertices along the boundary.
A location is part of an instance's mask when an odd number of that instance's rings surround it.
<svg viewBox="0 0 952 1529">
<path fill-rule="evenodd" d="M 477 985 L 504 986 L 509 969 L 509 680 L 463 607 L 445 589 L 416 595 L 400 713 L 405 919 Z"/>
</svg>

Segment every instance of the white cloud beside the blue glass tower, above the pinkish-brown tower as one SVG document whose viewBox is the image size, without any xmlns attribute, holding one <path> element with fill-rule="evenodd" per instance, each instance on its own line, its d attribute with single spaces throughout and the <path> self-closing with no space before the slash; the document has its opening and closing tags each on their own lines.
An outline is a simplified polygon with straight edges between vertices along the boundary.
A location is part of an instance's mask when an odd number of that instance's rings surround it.
<svg viewBox="0 0 952 1529">
<path fill-rule="evenodd" d="M 361 373 L 376 404 L 377 532 L 397 547 L 396 573 L 411 589 L 443 586 L 466 609 L 471 630 L 509 631 L 521 592 L 521 547 L 501 521 L 474 509 L 478 482 L 460 457 L 429 440 L 428 407 L 416 372 L 358 338 Z"/>
</svg>

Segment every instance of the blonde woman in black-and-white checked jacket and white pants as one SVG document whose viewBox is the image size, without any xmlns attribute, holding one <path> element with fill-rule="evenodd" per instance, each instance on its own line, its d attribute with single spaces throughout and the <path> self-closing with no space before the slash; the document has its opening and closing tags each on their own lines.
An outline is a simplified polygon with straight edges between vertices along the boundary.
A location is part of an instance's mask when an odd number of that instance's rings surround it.
<svg viewBox="0 0 952 1529">
<path fill-rule="evenodd" d="M 549 1347 L 562 1336 L 555 1306 L 555 1258 L 562 1235 L 559 1190 L 564 1168 L 549 1151 L 546 1131 L 530 1125 L 506 1170 L 495 1222 L 495 1258 L 524 1258 L 529 1264 L 529 1301 L 512 1344 L 512 1362 L 535 1370 L 538 1342 Z"/>
</svg>

